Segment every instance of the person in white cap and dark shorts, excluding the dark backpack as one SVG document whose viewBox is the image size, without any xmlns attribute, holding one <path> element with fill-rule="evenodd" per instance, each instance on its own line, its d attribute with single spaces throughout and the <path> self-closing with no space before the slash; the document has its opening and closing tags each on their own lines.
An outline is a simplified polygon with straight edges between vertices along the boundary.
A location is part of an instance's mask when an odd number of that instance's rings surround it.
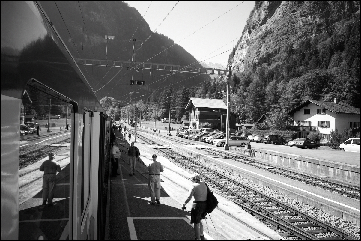
<svg viewBox="0 0 361 241">
<path fill-rule="evenodd" d="M 196 240 L 201 240 L 201 236 L 203 236 L 203 224 L 201 219 L 205 218 L 206 209 L 207 209 L 207 186 L 204 182 L 200 181 L 201 176 L 197 173 L 193 174 L 192 177 L 192 186 L 189 190 L 189 196 L 186 201 L 184 201 L 184 205 L 182 209 L 186 209 L 186 204 L 191 201 L 192 197 L 194 197 L 194 202 L 191 210 L 191 223 L 194 223 L 194 232 L 196 235 Z"/>
</svg>

